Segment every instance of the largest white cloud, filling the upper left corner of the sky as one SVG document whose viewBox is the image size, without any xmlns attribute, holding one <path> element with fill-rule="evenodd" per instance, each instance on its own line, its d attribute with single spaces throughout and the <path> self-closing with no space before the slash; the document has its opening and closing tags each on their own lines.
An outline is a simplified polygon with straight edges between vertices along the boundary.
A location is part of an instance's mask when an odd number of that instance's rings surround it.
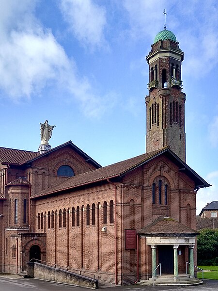
<svg viewBox="0 0 218 291">
<path fill-rule="evenodd" d="M 65 99 L 76 99 L 86 116 L 101 116 L 108 96 L 99 96 L 87 78 L 78 76 L 73 60 L 34 16 L 36 1 L 21 2 L 1 2 L 1 97 L 18 102 L 53 86 L 66 92 Z"/>
</svg>

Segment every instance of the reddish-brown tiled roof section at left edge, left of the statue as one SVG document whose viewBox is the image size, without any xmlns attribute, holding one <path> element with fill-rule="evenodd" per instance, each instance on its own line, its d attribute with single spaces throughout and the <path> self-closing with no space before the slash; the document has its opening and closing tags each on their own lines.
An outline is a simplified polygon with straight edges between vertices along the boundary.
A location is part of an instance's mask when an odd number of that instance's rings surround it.
<svg viewBox="0 0 218 291">
<path fill-rule="evenodd" d="M 39 156 L 39 153 L 37 152 L 15 149 L 15 148 L 0 147 L 0 162 L 1 163 L 21 164 L 37 156 Z"/>
</svg>

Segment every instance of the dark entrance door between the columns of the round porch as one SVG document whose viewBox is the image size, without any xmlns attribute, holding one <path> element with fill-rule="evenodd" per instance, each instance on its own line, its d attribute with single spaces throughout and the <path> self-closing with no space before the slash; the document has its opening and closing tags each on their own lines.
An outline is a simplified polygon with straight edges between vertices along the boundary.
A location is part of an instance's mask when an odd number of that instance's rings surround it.
<svg viewBox="0 0 218 291">
<path fill-rule="evenodd" d="M 158 245 L 158 259 L 161 263 L 161 274 L 173 274 L 172 245 Z"/>
</svg>

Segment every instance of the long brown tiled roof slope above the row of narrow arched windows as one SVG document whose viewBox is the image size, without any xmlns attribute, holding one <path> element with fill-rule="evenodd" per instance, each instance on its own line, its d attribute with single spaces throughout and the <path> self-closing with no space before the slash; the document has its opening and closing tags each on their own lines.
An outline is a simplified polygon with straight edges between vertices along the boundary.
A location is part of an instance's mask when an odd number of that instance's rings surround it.
<svg viewBox="0 0 218 291">
<path fill-rule="evenodd" d="M 164 148 L 165 149 L 165 148 Z M 93 171 L 89 171 L 74 177 L 67 178 L 63 182 L 52 186 L 50 188 L 47 188 L 43 192 L 39 194 L 35 194 L 32 197 L 37 197 L 41 195 L 46 195 L 46 194 L 51 194 L 54 192 L 59 192 L 62 190 L 66 189 L 71 189 L 75 188 L 77 186 L 81 186 L 84 184 L 89 184 L 92 182 L 100 181 L 100 180 L 105 180 L 107 178 L 112 178 L 112 177 L 118 177 L 126 172 L 128 170 L 132 170 L 135 167 L 138 167 L 140 164 L 143 164 L 144 162 L 148 161 L 150 158 L 155 156 L 156 154 L 162 152 L 163 149 L 161 150 L 156 150 L 147 154 L 143 154 L 122 162 L 117 162 L 112 165 L 102 167 Z"/>
</svg>

